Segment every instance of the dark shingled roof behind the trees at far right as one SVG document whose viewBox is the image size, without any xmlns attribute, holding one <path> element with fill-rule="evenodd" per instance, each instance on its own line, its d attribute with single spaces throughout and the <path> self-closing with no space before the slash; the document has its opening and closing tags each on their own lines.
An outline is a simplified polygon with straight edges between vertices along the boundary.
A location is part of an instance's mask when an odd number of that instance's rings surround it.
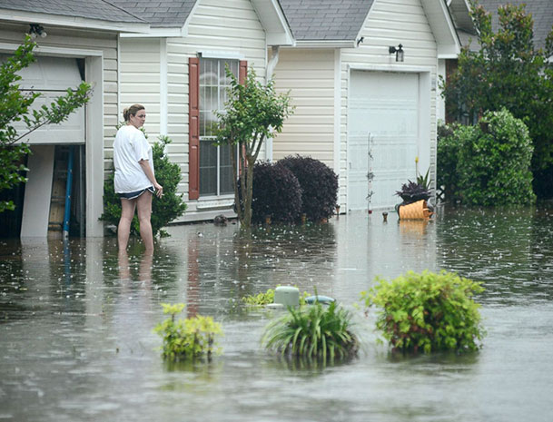
<svg viewBox="0 0 553 422">
<path fill-rule="evenodd" d="M 492 28 L 497 31 L 499 25 L 499 5 L 526 4 L 527 13 L 534 19 L 534 46 L 543 48 L 546 37 L 553 26 L 553 0 L 479 0 L 479 4 L 492 13 Z"/>
</svg>

